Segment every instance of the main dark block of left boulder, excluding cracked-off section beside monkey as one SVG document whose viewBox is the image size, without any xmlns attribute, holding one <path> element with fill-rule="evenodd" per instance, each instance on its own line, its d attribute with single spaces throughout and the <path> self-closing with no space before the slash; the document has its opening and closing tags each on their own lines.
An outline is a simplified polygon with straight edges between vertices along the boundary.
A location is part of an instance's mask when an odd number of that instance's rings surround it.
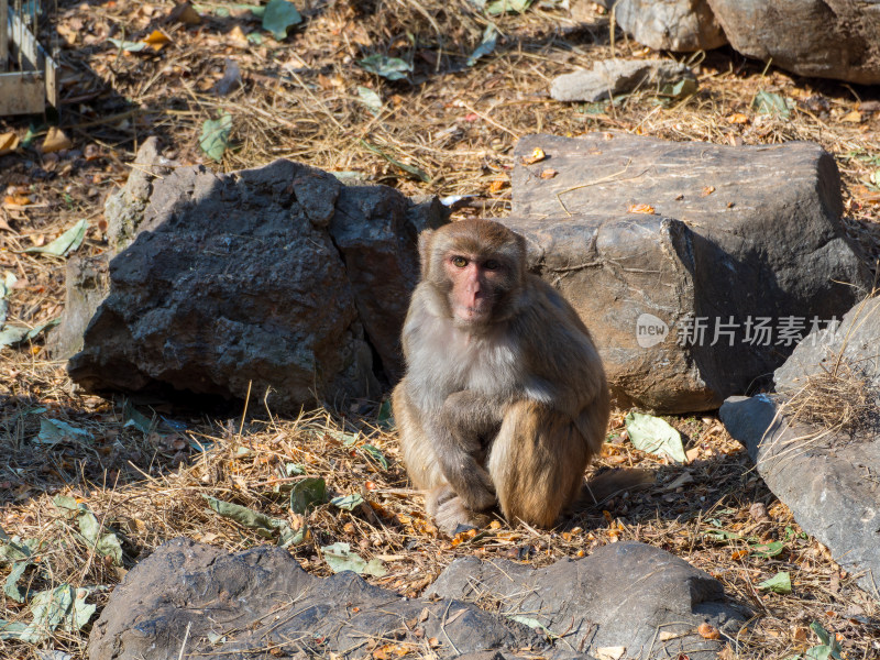
<svg viewBox="0 0 880 660">
<path fill-rule="evenodd" d="M 111 290 L 70 359 L 87 391 L 152 388 L 276 409 L 377 391 L 329 234 L 340 184 L 278 161 L 237 175 L 178 168 L 154 184 Z"/>
</svg>

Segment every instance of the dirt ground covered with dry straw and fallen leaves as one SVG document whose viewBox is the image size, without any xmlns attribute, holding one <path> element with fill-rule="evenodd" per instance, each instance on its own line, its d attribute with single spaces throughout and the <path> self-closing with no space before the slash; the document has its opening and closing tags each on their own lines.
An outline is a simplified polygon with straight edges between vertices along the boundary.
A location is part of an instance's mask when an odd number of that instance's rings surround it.
<svg viewBox="0 0 880 660">
<path fill-rule="evenodd" d="M 407 195 L 472 196 L 459 217 L 506 215 L 512 147 L 532 132 L 624 131 L 719 144 L 813 140 L 837 160 L 847 231 L 876 271 L 880 88 L 798 78 L 721 48 L 679 57 L 700 84 L 685 98 L 641 89 L 614 102 L 561 103 L 548 94 L 559 74 L 609 56 L 661 54 L 613 32 L 604 10 L 581 0 L 538 1 L 524 13 L 492 16 L 468 0 L 296 4 L 302 22 L 282 41 L 245 4 L 194 3 L 178 20 L 169 16 L 169 1 L 45 7 L 41 40 L 58 48 L 62 106 L 45 118 L 0 118 L 0 145 L 8 133 L 19 143 L 0 155 L 0 267 L 18 278 L 8 295 L 10 322 L 37 327 L 58 317 L 64 258 L 24 251 L 51 244 L 82 219 L 79 253 L 106 250 L 105 199 L 138 167 L 134 154 L 148 135 L 158 135 L 165 155 L 183 164 L 231 170 L 286 157 L 354 172 Z M 490 22 L 497 44 L 469 66 Z M 132 51 L 144 40 L 152 45 Z M 400 58 L 411 70 L 400 80 L 370 73 L 359 61 L 374 54 Z M 220 94 L 224 74 L 235 80 L 235 66 L 241 85 Z M 756 109 L 761 91 L 788 99 L 788 117 Z M 229 145 L 217 163 L 199 139 L 206 121 L 224 116 Z M 51 141 L 43 148 L 47 136 L 58 139 L 50 135 L 52 125 L 69 140 L 61 143 L 66 148 L 53 151 Z M 620 410 L 598 465 L 651 469 L 654 488 L 583 512 L 552 531 L 494 524 L 485 535 L 448 539 L 408 488 L 381 402 L 298 419 L 279 418 L 257 400 L 248 415 L 240 406 L 226 416 L 141 406 L 144 421 L 121 398 L 77 392 L 64 364 L 47 359 L 42 336 L 0 350 L 0 527 L 32 549 L 19 593 L 8 587 L 0 595 L 6 622 L 30 623 L 33 594 L 64 584 L 84 590 L 85 603 L 100 614 L 127 570 L 179 535 L 230 550 L 273 542 L 217 515 L 206 506 L 209 495 L 301 530 L 292 552 L 307 570 L 328 574 L 321 547 L 349 541 L 387 569 L 369 578 L 372 583 L 407 595 L 419 595 L 459 556 L 542 565 L 635 539 L 708 571 L 751 608 L 751 625 L 727 640 L 727 660 L 805 653 L 822 644 L 818 627 L 836 639 L 843 658 L 880 657 L 877 604 L 802 532 L 712 415 L 669 419 L 688 450 L 688 463 L 676 465 L 634 449 Z M 58 442 L 37 442 L 41 418 L 90 437 L 68 432 Z M 304 476 L 323 479 L 330 497 L 360 495 L 363 504 L 298 513 L 287 491 Z M 59 495 L 88 507 L 100 535 L 119 539 L 121 565 L 88 541 L 82 515 L 53 502 Z M 0 554 L 6 580 L 14 566 L 3 558 L 10 557 Z M 780 572 L 790 575 L 790 593 L 761 586 Z M 28 642 L 3 639 L 0 622 L 0 656 L 36 659 L 57 649 L 84 658 L 89 624 L 56 624 Z M 812 651 L 827 657 L 822 652 Z M 377 646 L 372 654 L 418 653 Z"/>
</svg>

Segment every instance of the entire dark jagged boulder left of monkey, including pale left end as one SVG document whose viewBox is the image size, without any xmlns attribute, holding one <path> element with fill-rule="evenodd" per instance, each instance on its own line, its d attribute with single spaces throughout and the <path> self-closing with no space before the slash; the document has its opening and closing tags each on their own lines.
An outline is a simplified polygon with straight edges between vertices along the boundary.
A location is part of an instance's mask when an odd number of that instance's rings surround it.
<svg viewBox="0 0 880 660">
<path fill-rule="evenodd" d="M 216 175 L 160 173 L 156 157 L 145 145 L 108 202 L 109 266 L 68 270 L 52 348 L 70 358 L 76 383 L 163 396 L 268 392 L 270 406 L 295 411 L 316 397 L 378 394 L 381 367 L 399 374 L 416 238 L 447 221 L 439 202 L 346 187 L 287 161 Z"/>
</svg>

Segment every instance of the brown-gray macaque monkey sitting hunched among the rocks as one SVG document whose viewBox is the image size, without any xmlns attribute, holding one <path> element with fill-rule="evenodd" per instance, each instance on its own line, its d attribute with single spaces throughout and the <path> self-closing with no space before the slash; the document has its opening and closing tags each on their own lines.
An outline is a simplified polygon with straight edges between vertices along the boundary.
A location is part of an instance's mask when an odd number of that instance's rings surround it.
<svg viewBox="0 0 880 660">
<path fill-rule="evenodd" d="M 590 332 L 498 222 L 427 230 L 419 254 L 392 399 L 407 472 L 447 534 L 496 505 L 512 524 L 552 526 L 608 424 Z"/>
</svg>

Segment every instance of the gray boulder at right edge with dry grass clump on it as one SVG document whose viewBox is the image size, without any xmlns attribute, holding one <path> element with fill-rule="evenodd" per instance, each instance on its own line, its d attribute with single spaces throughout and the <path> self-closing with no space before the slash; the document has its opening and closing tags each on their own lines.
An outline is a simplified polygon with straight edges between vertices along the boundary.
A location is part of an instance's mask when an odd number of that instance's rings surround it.
<svg viewBox="0 0 880 660">
<path fill-rule="evenodd" d="M 855 428 L 803 420 L 796 404 L 785 405 L 809 376 L 839 373 L 842 365 L 851 370 L 847 377 L 864 378 L 860 395 L 875 400 Z M 804 531 L 880 601 L 880 298 L 854 307 L 836 331 L 804 339 L 776 382 L 787 394 L 732 397 L 722 420 Z"/>
</svg>

